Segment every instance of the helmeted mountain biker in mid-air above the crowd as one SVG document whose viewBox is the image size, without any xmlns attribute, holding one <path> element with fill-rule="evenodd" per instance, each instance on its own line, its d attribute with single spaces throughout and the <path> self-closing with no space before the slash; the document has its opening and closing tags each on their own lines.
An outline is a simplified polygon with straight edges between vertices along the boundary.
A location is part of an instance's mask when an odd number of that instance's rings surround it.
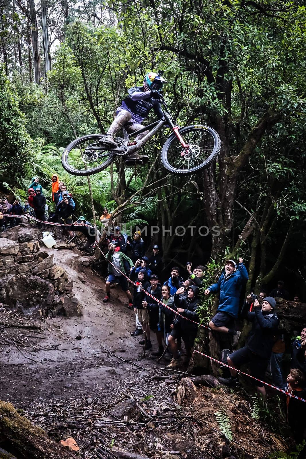
<svg viewBox="0 0 306 459">
<path fill-rule="evenodd" d="M 123 99 L 120 107 L 117 108 L 116 118 L 111 123 L 106 134 L 100 140 L 100 143 L 106 144 L 110 148 L 117 148 L 117 142 L 114 140 L 114 135 L 128 123 L 126 127 L 128 132 L 135 132 L 143 129 L 141 123 L 149 115 L 150 110 L 153 108 L 155 114 L 159 119 L 163 118 L 161 104 L 159 102 L 160 90 L 167 81 L 162 78 L 161 73 L 149 72 L 145 75 L 144 83 L 142 86 L 136 86 L 128 90 L 128 97 Z M 141 132 L 135 138 L 135 142 L 142 139 L 148 130 Z M 139 157 L 137 154 L 129 155 L 128 159 L 149 158 L 145 155 Z"/>
</svg>

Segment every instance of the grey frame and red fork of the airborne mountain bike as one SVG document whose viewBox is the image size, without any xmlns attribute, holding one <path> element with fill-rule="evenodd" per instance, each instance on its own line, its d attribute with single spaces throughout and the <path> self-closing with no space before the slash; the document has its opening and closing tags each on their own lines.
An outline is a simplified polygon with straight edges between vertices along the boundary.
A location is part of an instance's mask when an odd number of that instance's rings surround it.
<svg viewBox="0 0 306 459">
<path fill-rule="evenodd" d="M 183 147 L 182 155 L 184 156 L 184 154 L 188 153 L 189 145 L 184 142 L 183 137 L 178 132 L 179 126 L 175 126 L 173 124 L 172 117 L 171 117 L 170 113 L 168 112 L 167 105 L 166 105 L 166 103 L 165 103 L 165 101 L 164 101 L 162 96 L 160 97 L 160 101 L 161 101 L 161 105 L 163 105 L 165 107 L 165 109 L 162 111 L 163 114 L 164 114 L 165 119 L 154 121 L 153 123 L 148 124 L 148 126 L 144 126 L 142 129 L 138 129 L 137 131 L 132 132 L 131 134 L 128 134 L 127 129 L 125 127 L 122 128 L 122 130 L 123 130 L 123 141 L 124 141 L 125 145 L 128 145 L 128 140 L 129 140 L 130 137 L 137 136 L 138 134 L 141 134 L 142 132 L 145 132 L 148 129 L 152 128 L 152 130 L 150 130 L 150 132 L 148 132 L 148 134 L 146 134 L 142 139 L 140 139 L 137 142 L 136 145 L 128 147 L 128 154 L 131 154 L 131 153 L 134 153 L 134 152 L 138 151 L 142 146 L 145 145 L 145 143 L 151 137 L 153 137 L 153 135 L 159 129 L 162 128 L 162 126 L 165 126 L 165 124 L 171 126 L 171 129 L 172 129 L 174 135 L 177 137 L 179 143 L 182 145 L 182 147 Z"/>
</svg>

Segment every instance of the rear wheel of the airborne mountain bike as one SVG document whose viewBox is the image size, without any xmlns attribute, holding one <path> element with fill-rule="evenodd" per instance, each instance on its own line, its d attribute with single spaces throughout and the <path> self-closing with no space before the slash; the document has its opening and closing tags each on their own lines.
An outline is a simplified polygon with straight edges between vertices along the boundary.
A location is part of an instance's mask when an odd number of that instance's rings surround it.
<svg viewBox="0 0 306 459">
<path fill-rule="evenodd" d="M 83 135 L 73 140 L 63 151 L 61 164 L 72 175 L 93 175 L 106 169 L 114 160 L 112 151 L 103 149 L 102 134 Z"/>
</svg>

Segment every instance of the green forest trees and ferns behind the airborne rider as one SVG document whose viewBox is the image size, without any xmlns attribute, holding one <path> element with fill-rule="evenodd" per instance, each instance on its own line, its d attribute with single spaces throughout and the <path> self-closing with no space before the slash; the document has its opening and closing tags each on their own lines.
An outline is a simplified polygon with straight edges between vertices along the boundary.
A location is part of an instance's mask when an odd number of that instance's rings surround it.
<svg viewBox="0 0 306 459">
<path fill-rule="evenodd" d="M 107 205 L 132 228 L 205 225 L 206 237 L 156 234 L 165 262 L 243 255 L 249 288 L 283 277 L 305 296 L 305 11 L 301 0 L 4 0 L 2 189 L 24 199 L 39 175 L 50 192 L 56 172 L 92 219 L 87 179 L 62 169 L 61 152 L 105 133 L 127 89 L 164 70 L 177 123 L 219 133 L 217 162 L 168 174 L 159 160 L 165 131 L 146 149 L 147 166 L 116 162 L 92 176 L 96 212 Z"/>
</svg>

